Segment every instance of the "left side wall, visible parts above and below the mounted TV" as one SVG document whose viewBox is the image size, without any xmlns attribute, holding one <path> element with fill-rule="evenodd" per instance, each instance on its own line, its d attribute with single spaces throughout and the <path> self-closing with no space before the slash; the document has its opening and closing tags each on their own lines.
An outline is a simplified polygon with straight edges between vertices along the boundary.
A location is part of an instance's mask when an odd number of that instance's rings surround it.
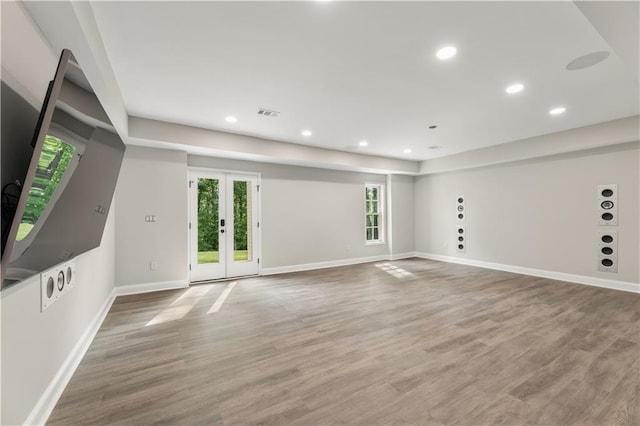
<svg viewBox="0 0 640 426">
<path fill-rule="evenodd" d="M 57 54 L 20 4 L 2 2 L 1 7 L 2 80 L 39 108 L 55 72 Z M 2 143 L 29 144 L 30 140 L 3 139 Z M 0 293 L 1 424 L 27 420 L 87 327 L 112 300 L 114 237 L 112 206 L 101 246 L 76 257 L 76 286 L 45 312 L 40 312 L 39 277 Z"/>
</svg>

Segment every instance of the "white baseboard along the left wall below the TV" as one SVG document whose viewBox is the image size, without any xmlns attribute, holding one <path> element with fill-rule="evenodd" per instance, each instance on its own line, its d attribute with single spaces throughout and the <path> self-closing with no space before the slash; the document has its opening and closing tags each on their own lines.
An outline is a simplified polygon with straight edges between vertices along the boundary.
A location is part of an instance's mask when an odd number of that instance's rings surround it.
<svg viewBox="0 0 640 426">
<path fill-rule="evenodd" d="M 107 313 L 109 313 L 115 298 L 116 290 L 113 289 L 107 297 L 107 300 L 105 300 L 102 307 L 98 310 L 96 316 L 93 317 L 93 320 L 91 320 L 84 333 L 82 333 L 82 336 L 80 336 L 80 339 L 78 339 L 71 352 L 69 352 L 69 355 L 58 369 L 56 375 L 53 377 L 51 382 L 49 382 L 49 385 L 40 396 L 40 399 L 38 399 L 38 402 L 31 410 L 31 413 L 29 414 L 29 417 L 27 417 L 27 420 L 25 420 L 24 424 L 44 425 L 47 422 L 47 419 L 55 408 L 62 392 L 67 387 L 67 384 L 78 368 L 78 365 L 80 365 L 80 361 L 84 358 L 89 346 L 91 346 L 91 342 L 93 342 L 102 322 L 107 316 Z"/>
</svg>

